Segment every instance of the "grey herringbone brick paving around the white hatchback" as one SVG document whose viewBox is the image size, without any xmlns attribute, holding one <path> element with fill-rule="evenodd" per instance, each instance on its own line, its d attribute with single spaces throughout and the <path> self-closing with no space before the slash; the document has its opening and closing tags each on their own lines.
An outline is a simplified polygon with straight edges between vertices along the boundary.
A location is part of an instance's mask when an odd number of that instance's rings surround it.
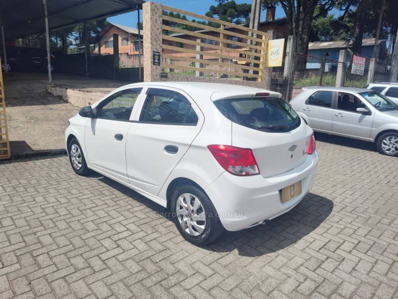
<svg viewBox="0 0 398 299">
<path fill-rule="evenodd" d="M 206 248 L 66 156 L 0 164 L 0 298 L 398 298 L 398 158 L 317 139 L 311 194 Z"/>
</svg>

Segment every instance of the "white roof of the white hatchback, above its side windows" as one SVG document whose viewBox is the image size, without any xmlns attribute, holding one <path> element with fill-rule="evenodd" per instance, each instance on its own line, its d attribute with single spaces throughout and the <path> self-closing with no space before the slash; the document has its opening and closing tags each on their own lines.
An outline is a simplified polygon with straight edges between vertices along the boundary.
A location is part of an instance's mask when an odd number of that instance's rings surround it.
<svg viewBox="0 0 398 299">
<path fill-rule="evenodd" d="M 143 82 L 129 84 L 135 85 L 152 85 L 159 87 L 172 87 L 185 91 L 190 96 L 197 98 L 207 98 L 212 101 L 225 98 L 240 98 L 245 96 L 253 96 L 256 93 L 269 93 L 269 97 L 280 98 L 282 95 L 278 92 L 261 89 L 256 87 L 233 85 L 225 83 L 203 83 L 203 82 Z"/>
</svg>

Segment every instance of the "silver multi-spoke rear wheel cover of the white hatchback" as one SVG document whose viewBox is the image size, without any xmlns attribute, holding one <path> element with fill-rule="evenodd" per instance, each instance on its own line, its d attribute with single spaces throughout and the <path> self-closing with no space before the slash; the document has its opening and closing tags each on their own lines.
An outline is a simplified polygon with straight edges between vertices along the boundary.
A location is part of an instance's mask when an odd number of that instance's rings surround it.
<svg viewBox="0 0 398 299">
<path fill-rule="evenodd" d="M 199 236 L 206 227 L 206 215 L 199 198 L 191 193 L 181 194 L 177 200 L 176 214 L 183 230 Z"/>
</svg>

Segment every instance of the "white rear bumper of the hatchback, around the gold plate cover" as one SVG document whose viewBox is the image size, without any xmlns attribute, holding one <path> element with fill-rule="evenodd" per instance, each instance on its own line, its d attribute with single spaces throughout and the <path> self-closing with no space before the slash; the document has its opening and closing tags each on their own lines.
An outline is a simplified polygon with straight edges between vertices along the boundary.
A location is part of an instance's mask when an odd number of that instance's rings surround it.
<svg viewBox="0 0 398 299">
<path fill-rule="evenodd" d="M 220 221 L 228 231 L 237 231 L 261 224 L 294 208 L 314 184 L 318 155 L 308 155 L 304 163 L 272 177 L 235 176 L 223 172 L 206 189 Z M 280 190 L 298 181 L 301 194 L 282 203 Z"/>
</svg>

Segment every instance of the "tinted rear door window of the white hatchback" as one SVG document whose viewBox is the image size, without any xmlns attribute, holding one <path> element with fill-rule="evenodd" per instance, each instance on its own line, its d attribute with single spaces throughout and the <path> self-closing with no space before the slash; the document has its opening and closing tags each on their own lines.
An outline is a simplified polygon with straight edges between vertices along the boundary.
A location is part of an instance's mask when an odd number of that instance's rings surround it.
<svg viewBox="0 0 398 299">
<path fill-rule="evenodd" d="M 182 94 L 160 88 L 149 88 L 140 122 L 196 125 L 198 115 Z"/>
</svg>

